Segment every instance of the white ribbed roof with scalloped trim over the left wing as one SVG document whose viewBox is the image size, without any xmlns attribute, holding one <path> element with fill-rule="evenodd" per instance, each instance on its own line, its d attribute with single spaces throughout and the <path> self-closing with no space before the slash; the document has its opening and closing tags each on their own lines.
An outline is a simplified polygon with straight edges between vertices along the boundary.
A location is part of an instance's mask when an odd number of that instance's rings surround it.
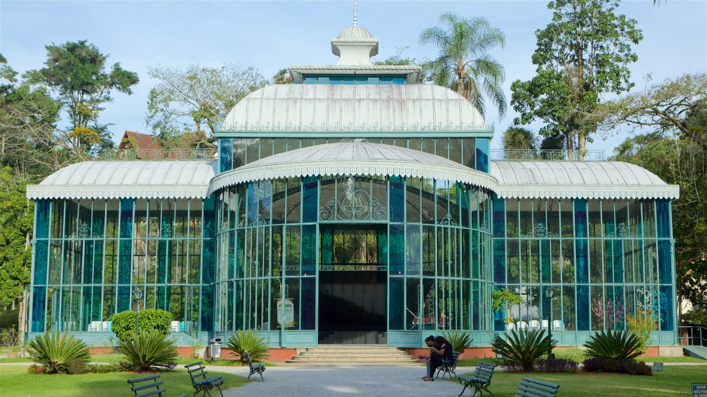
<svg viewBox="0 0 707 397">
<path fill-rule="evenodd" d="M 37 185 L 28 198 L 204 198 L 216 174 L 209 161 L 87 161 Z"/>
</svg>

